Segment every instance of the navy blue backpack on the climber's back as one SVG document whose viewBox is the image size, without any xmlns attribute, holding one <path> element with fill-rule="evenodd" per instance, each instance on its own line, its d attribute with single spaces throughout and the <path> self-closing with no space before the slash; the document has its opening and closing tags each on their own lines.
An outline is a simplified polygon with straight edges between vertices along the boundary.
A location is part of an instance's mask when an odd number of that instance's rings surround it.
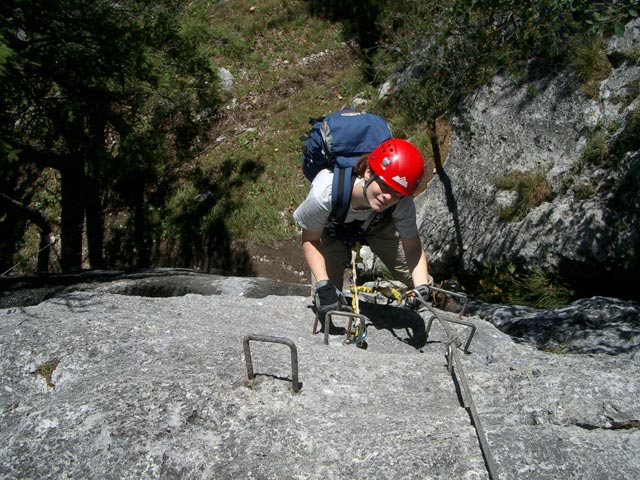
<svg viewBox="0 0 640 480">
<path fill-rule="evenodd" d="M 313 125 L 302 147 L 302 171 L 313 181 L 322 169 L 333 169 L 331 219 L 342 223 L 349 211 L 353 167 L 365 153 L 391 138 L 386 120 L 373 113 L 339 110 Z"/>
</svg>

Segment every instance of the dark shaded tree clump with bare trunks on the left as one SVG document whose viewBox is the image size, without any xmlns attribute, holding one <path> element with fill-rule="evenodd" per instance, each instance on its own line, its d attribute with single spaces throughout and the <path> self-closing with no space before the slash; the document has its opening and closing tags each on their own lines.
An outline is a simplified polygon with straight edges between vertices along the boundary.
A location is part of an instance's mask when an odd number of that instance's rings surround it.
<svg viewBox="0 0 640 480">
<path fill-rule="evenodd" d="M 25 185 L 45 169 L 59 172 L 63 271 L 81 268 L 85 220 L 90 264 L 103 265 L 110 206 L 131 211 L 135 261 L 149 261 L 146 199 L 193 155 L 219 103 L 199 50 L 205 37 L 184 28 L 188 3 L 0 6 L 0 165 L 13 172 L 2 180 L 2 205 L 7 217 L 24 219 L 33 199 Z"/>
</svg>

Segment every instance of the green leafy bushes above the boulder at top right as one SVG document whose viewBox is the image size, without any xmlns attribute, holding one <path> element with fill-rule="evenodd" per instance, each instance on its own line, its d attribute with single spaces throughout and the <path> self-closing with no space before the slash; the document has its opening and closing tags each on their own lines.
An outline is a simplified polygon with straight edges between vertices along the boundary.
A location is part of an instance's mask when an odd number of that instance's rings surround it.
<svg viewBox="0 0 640 480">
<path fill-rule="evenodd" d="M 628 19 L 638 15 L 638 4 L 637 0 L 406 2 L 394 9 L 393 35 L 398 40 L 385 45 L 381 72 L 388 73 L 393 62 L 396 67 L 416 67 L 418 75 L 401 87 L 397 101 L 412 118 L 427 121 L 459 110 L 462 100 L 500 69 L 517 77 L 524 77 L 527 68 L 544 74 L 557 63 L 568 63 L 576 50 L 581 58 L 578 71 L 588 82 L 610 68 L 600 39 L 620 32 Z M 585 35 L 593 39 L 586 49 L 574 40 Z M 589 60 L 597 62 L 588 66 Z"/>
</svg>

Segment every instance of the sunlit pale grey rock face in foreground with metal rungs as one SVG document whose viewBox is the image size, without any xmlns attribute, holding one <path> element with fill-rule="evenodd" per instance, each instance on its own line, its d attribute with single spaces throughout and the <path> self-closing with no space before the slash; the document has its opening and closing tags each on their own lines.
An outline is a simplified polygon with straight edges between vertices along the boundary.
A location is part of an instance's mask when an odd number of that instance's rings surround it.
<svg viewBox="0 0 640 480">
<path fill-rule="evenodd" d="M 0 310 L 0 477 L 489 478 L 427 311 L 364 304 L 362 350 L 324 345 L 289 288 L 166 280 L 208 293 L 161 298 L 159 275 L 149 289 L 118 278 Z M 497 476 L 640 477 L 637 348 L 555 355 L 466 320 L 477 332 L 460 362 Z M 247 381 L 248 334 L 295 343 L 298 393 L 281 344 L 250 342 Z"/>
</svg>

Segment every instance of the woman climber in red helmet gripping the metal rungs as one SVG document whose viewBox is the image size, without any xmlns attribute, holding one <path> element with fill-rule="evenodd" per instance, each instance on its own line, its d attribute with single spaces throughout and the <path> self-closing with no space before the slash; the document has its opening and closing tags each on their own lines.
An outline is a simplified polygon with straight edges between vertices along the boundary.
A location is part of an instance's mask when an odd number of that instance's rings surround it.
<svg viewBox="0 0 640 480">
<path fill-rule="evenodd" d="M 324 169 L 313 179 L 306 199 L 293 213 L 302 228 L 302 250 L 315 283 L 315 306 L 323 322 L 340 309 L 345 266 L 351 248 L 368 245 L 396 280 L 428 298 L 431 283 L 427 259 L 416 224 L 412 195 L 424 173 L 424 159 L 400 138 L 383 141 L 353 168 L 355 181 L 343 222 L 332 216 L 334 171 Z M 415 306 L 417 302 L 407 302 Z"/>
</svg>

